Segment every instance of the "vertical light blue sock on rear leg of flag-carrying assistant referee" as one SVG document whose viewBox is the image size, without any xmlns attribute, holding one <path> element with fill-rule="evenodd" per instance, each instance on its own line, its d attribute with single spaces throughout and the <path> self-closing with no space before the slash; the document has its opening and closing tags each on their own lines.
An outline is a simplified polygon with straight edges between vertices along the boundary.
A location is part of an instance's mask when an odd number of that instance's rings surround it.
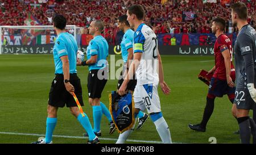
<svg viewBox="0 0 256 155">
<path fill-rule="evenodd" d="M 57 123 L 57 118 L 47 118 L 46 119 L 46 143 L 52 141 L 52 133 Z"/>
</svg>

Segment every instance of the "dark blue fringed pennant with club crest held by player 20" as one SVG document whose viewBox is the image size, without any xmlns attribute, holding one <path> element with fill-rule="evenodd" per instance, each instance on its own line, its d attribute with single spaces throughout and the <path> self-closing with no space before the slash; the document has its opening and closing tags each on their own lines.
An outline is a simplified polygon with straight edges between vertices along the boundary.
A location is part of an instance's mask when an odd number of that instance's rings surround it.
<svg viewBox="0 0 256 155">
<path fill-rule="evenodd" d="M 117 91 L 112 91 L 109 94 L 109 111 L 119 133 L 133 127 L 135 123 L 134 100 L 131 93 L 120 96 Z"/>
</svg>

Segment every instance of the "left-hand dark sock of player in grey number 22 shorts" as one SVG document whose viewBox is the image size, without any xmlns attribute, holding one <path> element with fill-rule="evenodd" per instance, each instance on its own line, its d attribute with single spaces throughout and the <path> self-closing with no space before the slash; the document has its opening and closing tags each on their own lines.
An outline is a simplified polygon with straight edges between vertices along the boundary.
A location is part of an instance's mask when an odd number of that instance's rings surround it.
<svg viewBox="0 0 256 155">
<path fill-rule="evenodd" d="M 251 129 L 249 116 L 237 118 L 237 122 L 240 128 L 240 138 L 242 144 L 250 144 Z"/>
</svg>

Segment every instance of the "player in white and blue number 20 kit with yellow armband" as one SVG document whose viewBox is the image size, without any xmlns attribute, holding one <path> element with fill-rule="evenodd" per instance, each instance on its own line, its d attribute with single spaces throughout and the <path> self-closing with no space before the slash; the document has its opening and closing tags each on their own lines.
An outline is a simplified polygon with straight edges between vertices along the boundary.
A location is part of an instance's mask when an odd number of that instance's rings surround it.
<svg viewBox="0 0 256 155">
<path fill-rule="evenodd" d="M 164 120 L 158 96 L 158 84 L 164 94 L 170 94 L 170 88 L 164 82 L 162 61 L 158 52 L 158 43 L 154 31 L 143 23 L 144 10 L 141 5 L 133 5 L 127 10 L 127 20 L 134 27 L 134 60 L 129 72 L 118 90 L 119 95 L 126 94 L 129 79 L 136 72 L 137 85 L 134 90 L 135 118 L 139 110 L 147 109 L 163 143 L 172 143 L 169 127 Z M 159 74 L 158 74 L 159 71 Z M 117 143 L 124 143 L 133 129 L 123 132 Z"/>
</svg>

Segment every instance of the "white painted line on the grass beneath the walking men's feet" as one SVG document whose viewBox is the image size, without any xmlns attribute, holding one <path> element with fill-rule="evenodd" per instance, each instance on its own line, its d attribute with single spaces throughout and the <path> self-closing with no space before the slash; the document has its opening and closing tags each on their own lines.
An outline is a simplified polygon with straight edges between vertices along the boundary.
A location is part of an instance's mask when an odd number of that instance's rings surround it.
<svg viewBox="0 0 256 155">
<path fill-rule="evenodd" d="M 38 136 L 43 137 L 46 135 L 36 134 L 36 133 L 16 133 L 16 132 L 0 132 L 3 135 L 22 135 L 22 136 Z M 88 139 L 88 137 L 82 136 L 64 136 L 64 135 L 52 135 L 53 137 L 61 137 L 61 138 L 69 138 L 69 139 Z M 110 138 L 103 138 L 99 137 L 100 140 L 110 140 L 110 141 L 117 141 L 117 139 L 110 139 Z M 127 139 L 126 141 L 130 142 L 137 142 L 137 143 L 154 143 L 154 144 L 162 144 L 162 141 L 147 141 L 147 140 L 130 140 Z"/>
</svg>

